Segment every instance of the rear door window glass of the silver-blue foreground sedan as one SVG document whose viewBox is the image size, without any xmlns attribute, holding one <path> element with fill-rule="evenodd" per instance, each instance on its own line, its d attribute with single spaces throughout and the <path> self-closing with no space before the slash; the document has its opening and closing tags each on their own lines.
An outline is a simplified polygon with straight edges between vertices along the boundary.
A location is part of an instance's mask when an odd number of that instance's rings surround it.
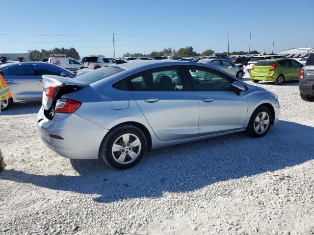
<svg viewBox="0 0 314 235">
<path fill-rule="evenodd" d="M 178 69 L 144 72 L 128 80 L 131 91 L 185 91 Z"/>
</svg>

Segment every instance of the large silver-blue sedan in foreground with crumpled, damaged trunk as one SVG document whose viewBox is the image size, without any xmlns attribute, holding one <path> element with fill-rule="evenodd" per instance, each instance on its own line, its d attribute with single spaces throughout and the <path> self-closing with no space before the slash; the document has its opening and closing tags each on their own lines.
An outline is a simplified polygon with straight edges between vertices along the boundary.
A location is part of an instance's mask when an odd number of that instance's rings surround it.
<svg viewBox="0 0 314 235">
<path fill-rule="evenodd" d="M 151 149 L 247 131 L 279 117 L 275 94 L 215 67 L 133 61 L 68 79 L 43 76 L 41 140 L 59 155 L 129 168 Z"/>
</svg>

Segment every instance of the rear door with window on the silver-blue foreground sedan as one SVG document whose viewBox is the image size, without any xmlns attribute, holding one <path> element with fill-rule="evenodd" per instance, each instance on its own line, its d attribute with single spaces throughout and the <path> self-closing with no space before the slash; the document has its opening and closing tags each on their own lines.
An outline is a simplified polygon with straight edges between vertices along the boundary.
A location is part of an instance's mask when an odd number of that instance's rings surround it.
<svg viewBox="0 0 314 235">
<path fill-rule="evenodd" d="M 127 79 L 132 96 L 162 141 L 199 135 L 200 105 L 185 79 L 180 67 L 162 67 Z"/>
</svg>

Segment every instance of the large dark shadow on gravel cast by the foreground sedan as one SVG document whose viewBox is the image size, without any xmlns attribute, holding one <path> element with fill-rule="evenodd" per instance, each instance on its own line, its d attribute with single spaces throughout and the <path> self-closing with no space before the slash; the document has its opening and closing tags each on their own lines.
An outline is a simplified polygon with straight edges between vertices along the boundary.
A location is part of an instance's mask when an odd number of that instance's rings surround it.
<svg viewBox="0 0 314 235">
<path fill-rule="evenodd" d="M 193 191 L 218 181 L 302 164 L 314 159 L 313 137 L 313 127 L 279 121 L 260 139 L 240 133 L 161 148 L 124 171 L 104 167 L 98 160 L 73 160 L 71 163 L 80 176 L 34 175 L 13 169 L 1 172 L 0 179 L 96 194 L 94 201 L 99 203 L 157 198 L 164 192 Z"/>
</svg>

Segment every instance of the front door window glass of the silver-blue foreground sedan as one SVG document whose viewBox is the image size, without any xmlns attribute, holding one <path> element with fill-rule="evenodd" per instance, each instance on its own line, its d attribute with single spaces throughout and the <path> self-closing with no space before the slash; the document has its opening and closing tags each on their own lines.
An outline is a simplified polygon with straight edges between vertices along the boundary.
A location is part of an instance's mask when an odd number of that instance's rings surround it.
<svg viewBox="0 0 314 235">
<path fill-rule="evenodd" d="M 188 69 L 188 72 L 196 91 L 230 91 L 231 81 L 224 74 L 203 68 Z"/>
</svg>

